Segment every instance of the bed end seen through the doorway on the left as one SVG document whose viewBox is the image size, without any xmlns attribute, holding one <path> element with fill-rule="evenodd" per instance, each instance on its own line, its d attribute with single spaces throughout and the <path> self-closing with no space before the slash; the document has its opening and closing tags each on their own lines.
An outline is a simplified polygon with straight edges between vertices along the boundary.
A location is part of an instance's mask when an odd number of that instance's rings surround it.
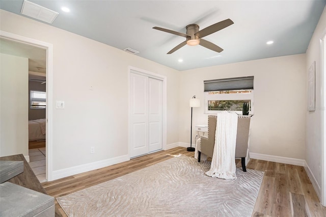
<svg viewBox="0 0 326 217">
<path fill-rule="evenodd" d="M 45 140 L 46 137 L 45 118 L 29 120 L 29 141 Z"/>
</svg>

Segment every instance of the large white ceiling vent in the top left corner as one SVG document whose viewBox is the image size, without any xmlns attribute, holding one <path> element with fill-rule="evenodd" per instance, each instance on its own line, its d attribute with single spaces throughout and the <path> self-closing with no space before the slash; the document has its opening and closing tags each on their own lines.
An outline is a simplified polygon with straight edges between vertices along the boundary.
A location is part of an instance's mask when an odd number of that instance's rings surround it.
<svg viewBox="0 0 326 217">
<path fill-rule="evenodd" d="M 52 23 L 59 14 L 26 0 L 24 0 L 20 13 L 48 23 Z"/>
</svg>

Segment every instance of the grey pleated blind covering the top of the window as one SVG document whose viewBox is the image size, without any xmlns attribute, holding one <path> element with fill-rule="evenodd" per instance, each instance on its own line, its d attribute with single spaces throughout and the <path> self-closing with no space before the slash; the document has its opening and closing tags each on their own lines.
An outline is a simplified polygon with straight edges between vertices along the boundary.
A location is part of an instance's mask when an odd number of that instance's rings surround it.
<svg viewBox="0 0 326 217">
<path fill-rule="evenodd" d="M 204 92 L 253 89 L 254 76 L 204 80 Z"/>
</svg>

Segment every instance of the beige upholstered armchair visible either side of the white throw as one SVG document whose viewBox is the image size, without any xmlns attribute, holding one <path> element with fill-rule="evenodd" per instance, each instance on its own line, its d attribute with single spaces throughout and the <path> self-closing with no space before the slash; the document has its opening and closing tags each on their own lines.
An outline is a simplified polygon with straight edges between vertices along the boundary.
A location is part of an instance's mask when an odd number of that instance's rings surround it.
<svg viewBox="0 0 326 217">
<path fill-rule="evenodd" d="M 251 116 L 239 116 L 236 134 L 235 157 L 241 158 L 241 166 L 243 172 L 246 170 L 246 157 L 248 149 L 248 137 Z M 208 116 L 208 137 L 201 137 L 200 144 L 198 144 L 198 162 L 200 162 L 201 153 L 208 157 L 213 156 L 215 145 L 215 131 L 216 131 L 216 116 Z"/>
</svg>

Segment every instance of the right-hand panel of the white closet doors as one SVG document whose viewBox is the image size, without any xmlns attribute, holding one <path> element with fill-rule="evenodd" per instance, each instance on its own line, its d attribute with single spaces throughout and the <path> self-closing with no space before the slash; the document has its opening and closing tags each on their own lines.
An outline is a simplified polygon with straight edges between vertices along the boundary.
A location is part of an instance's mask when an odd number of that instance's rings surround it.
<svg viewBox="0 0 326 217">
<path fill-rule="evenodd" d="M 162 149 L 162 81 L 148 78 L 149 152 Z"/>
</svg>

